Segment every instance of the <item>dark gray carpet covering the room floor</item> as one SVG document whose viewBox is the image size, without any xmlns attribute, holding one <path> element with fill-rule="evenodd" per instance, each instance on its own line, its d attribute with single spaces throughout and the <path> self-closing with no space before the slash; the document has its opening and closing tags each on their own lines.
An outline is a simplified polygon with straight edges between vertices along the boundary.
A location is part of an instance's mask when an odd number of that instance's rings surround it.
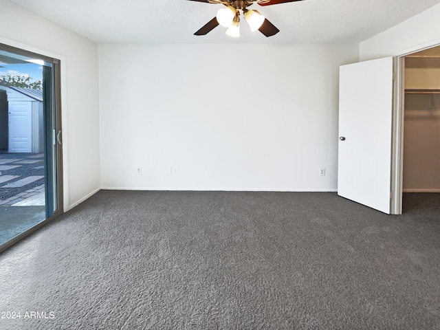
<svg viewBox="0 0 440 330">
<path fill-rule="evenodd" d="M 100 191 L 0 255 L 0 329 L 440 329 L 439 195 Z"/>
</svg>

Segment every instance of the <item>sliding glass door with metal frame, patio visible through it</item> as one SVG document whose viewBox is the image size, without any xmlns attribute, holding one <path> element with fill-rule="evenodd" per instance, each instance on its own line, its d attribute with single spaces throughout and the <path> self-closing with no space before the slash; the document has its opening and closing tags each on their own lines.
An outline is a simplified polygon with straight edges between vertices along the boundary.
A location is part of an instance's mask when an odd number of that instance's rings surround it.
<svg viewBox="0 0 440 330">
<path fill-rule="evenodd" d="M 63 212 L 60 62 L 0 44 L 0 250 Z"/>
</svg>

